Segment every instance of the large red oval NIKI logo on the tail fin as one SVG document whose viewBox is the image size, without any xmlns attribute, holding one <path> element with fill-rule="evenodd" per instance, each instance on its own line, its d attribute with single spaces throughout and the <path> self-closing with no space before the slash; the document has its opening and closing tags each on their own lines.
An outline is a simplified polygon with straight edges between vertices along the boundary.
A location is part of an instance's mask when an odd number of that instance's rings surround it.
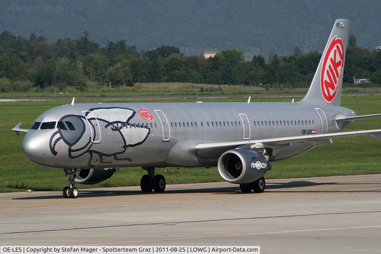
<svg viewBox="0 0 381 254">
<path fill-rule="evenodd" d="M 322 94 L 327 102 L 333 101 L 339 89 L 343 77 L 344 45 L 337 35 L 331 41 L 327 53 L 324 56 L 320 85 Z"/>
</svg>

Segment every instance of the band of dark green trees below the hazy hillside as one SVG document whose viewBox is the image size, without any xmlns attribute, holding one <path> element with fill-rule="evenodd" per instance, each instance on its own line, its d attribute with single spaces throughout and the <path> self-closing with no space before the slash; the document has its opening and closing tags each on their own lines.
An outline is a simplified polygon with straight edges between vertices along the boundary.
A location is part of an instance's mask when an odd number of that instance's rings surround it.
<svg viewBox="0 0 381 254">
<path fill-rule="evenodd" d="M 381 50 L 356 47 L 349 36 L 344 64 L 344 82 L 353 77 L 370 79 L 368 86 L 381 84 Z M 10 32 L 0 34 L 0 92 L 21 91 L 30 87 L 68 87 L 85 89 L 89 85 L 132 86 L 136 82 L 189 82 L 197 84 L 262 85 L 280 84 L 308 87 L 321 54 L 292 55 L 273 52 L 266 61 L 262 55 L 245 61 L 237 48 L 221 50 L 213 58 L 184 56 L 179 48 L 161 47 L 137 51 L 126 40 L 108 41 L 101 47 L 88 31 L 79 39 L 29 38 Z M 353 85 L 356 86 L 356 85 Z"/>
</svg>

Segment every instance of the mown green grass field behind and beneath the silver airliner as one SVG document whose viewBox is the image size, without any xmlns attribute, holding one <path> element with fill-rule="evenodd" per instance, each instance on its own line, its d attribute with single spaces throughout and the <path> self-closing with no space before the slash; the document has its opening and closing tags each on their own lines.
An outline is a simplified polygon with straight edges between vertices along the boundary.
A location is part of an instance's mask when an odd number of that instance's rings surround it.
<svg viewBox="0 0 381 254">
<path fill-rule="evenodd" d="M 194 102 L 196 99 L 181 99 Z M 181 100 L 155 100 L 156 102 L 180 102 Z M 296 101 L 299 99 L 296 99 Z M 134 101 L 145 102 L 147 100 Z M 213 101 L 247 101 L 247 98 L 205 99 Z M 290 98 L 254 98 L 251 101 L 290 101 Z M 81 101 L 86 102 L 86 101 Z M 92 103 L 96 101 L 91 101 Z M 104 102 L 104 101 L 103 101 Z M 120 101 L 122 102 L 122 101 Z M 126 101 L 131 102 L 131 101 Z M 153 102 L 153 100 L 149 100 Z M 70 101 L 19 101 L 0 102 L 0 192 L 32 190 L 61 190 L 67 186 L 63 170 L 41 167 L 28 161 L 21 151 L 24 133 L 17 137 L 11 131 L 22 122 L 21 128 L 29 129 L 34 120 L 44 111 L 70 103 Z M 381 111 L 381 97 L 343 96 L 341 106 L 353 109 L 357 114 L 375 114 Z M 381 119 L 356 121 L 347 131 L 380 129 Z M 381 174 L 381 140 L 370 137 L 335 139 L 330 146 L 312 149 L 285 161 L 274 162 L 266 178 L 315 177 L 328 175 Z M 161 172 L 168 184 L 219 182 L 223 179 L 216 168 L 169 169 Z M 97 185 L 76 185 L 78 188 L 139 185 L 146 171 L 141 168 L 122 168 L 113 177 Z"/>
</svg>

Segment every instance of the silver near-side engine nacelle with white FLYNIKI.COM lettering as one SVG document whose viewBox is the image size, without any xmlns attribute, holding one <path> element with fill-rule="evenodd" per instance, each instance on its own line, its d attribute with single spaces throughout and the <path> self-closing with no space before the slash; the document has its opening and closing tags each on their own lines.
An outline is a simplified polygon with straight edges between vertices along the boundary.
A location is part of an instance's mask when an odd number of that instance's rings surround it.
<svg viewBox="0 0 381 254">
<path fill-rule="evenodd" d="M 251 183 L 263 177 L 271 163 L 258 151 L 233 149 L 218 159 L 218 172 L 229 183 Z"/>
</svg>

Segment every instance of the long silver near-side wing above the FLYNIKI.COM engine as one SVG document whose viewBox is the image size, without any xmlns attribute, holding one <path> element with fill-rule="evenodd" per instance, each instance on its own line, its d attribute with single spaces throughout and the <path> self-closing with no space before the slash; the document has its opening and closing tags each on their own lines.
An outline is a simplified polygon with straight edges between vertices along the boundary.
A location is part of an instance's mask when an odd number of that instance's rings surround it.
<svg viewBox="0 0 381 254">
<path fill-rule="evenodd" d="M 265 144 L 270 146 L 284 146 L 290 143 L 307 142 L 311 145 L 322 146 L 330 145 L 332 143 L 331 138 L 346 138 L 346 137 L 360 137 L 369 135 L 374 139 L 381 139 L 381 129 L 378 130 L 358 130 L 353 132 L 338 132 L 327 134 L 314 134 L 314 135 L 302 135 L 282 138 L 266 138 L 261 140 L 245 140 L 223 143 L 202 143 L 198 144 L 195 148 L 197 154 L 203 157 L 218 156 L 224 151 L 234 149 L 237 147 L 243 149 L 250 149 L 258 144 Z"/>
</svg>

